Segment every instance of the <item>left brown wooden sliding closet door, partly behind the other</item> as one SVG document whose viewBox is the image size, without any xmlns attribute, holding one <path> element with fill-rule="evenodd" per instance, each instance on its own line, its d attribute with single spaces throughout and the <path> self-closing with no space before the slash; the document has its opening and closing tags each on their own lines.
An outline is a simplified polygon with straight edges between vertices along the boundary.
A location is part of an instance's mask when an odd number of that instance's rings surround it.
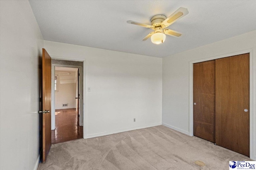
<svg viewBox="0 0 256 170">
<path fill-rule="evenodd" d="M 215 143 L 215 61 L 193 67 L 194 136 Z"/>
</svg>

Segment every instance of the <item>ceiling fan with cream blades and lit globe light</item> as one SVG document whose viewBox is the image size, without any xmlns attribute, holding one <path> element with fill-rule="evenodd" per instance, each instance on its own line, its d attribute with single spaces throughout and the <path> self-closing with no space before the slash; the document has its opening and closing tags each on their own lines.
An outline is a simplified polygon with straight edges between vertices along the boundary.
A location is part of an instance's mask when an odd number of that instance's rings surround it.
<svg viewBox="0 0 256 170">
<path fill-rule="evenodd" d="M 187 14 L 188 14 L 188 10 L 186 8 L 181 7 L 178 10 L 176 10 L 172 15 L 170 15 L 168 18 L 166 18 L 166 16 L 161 15 L 161 14 L 153 16 L 151 18 L 151 25 L 147 25 L 144 23 L 138 23 L 136 21 L 131 21 L 131 20 L 127 21 L 127 23 L 132 23 L 135 25 L 153 29 L 154 31 L 149 33 L 142 40 L 145 41 L 146 39 L 151 37 L 152 43 L 160 44 L 165 41 L 166 35 L 170 35 L 173 37 L 181 36 L 180 32 L 174 31 L 172 29 L 168 29 L 166 27 L 168 27 L 172 23 L 176 22 L 180 18 L 186 16 Z M 164 29 L 164 28 L 166 28 L 166 29 Z"/>
</svg>

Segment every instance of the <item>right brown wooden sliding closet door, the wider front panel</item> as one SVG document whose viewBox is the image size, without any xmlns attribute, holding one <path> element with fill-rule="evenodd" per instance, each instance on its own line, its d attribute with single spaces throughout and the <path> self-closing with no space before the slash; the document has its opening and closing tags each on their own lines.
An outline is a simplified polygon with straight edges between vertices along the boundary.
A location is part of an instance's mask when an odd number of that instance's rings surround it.
<svg viewBox="0 0 256 170">
<path fill-rule="evenodd" d="M 216 144 L 250 156 L 249 54 L 217 59 L 215 70 Z"/>
</svg>

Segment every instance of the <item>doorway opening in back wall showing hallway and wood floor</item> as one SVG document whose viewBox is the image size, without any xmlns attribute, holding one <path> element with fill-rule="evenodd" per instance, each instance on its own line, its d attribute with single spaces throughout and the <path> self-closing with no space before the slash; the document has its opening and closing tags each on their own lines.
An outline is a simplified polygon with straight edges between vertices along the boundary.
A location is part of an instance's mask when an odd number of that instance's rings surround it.
<svg viewBox="0 0 256 170">
<path fill-rule="evenodd" d="M 52 60 L 52 144 L 83 138 L 82 66 L 65 62 Z"/>
</svg>

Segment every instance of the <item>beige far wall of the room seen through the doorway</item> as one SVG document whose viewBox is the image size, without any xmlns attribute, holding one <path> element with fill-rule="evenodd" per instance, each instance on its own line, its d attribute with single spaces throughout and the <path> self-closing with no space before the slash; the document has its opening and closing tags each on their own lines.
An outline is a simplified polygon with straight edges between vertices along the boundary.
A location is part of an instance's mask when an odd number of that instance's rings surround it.
<svg viewBox="0 0 256 170">
<path fill-rule="evenodd" d="M 55 91 L 55 109 L 76 108 L 76 72 L 56 70 L 55 75 L 58 75 L 58 89 Z M 63 104 L 68 104 L 68 106 L 63 106 Z"/>
</svg>

